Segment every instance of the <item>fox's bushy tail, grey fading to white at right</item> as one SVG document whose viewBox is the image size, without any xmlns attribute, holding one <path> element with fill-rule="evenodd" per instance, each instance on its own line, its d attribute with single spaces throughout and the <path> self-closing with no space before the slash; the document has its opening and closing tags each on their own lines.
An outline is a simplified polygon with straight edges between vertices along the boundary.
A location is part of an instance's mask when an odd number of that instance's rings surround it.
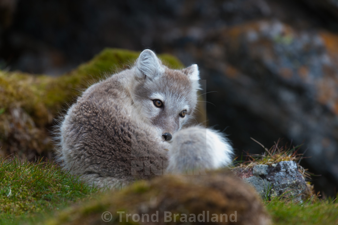
<svg viewBox="0 0 338 225">
<path fill-rule="evenodd" d="M 168 171 L 203 174 L 204 169 L 228 166 L 233 148 L 222 133 L 199 126 L 176 132 L 169 151 Z"/>
</svg>

